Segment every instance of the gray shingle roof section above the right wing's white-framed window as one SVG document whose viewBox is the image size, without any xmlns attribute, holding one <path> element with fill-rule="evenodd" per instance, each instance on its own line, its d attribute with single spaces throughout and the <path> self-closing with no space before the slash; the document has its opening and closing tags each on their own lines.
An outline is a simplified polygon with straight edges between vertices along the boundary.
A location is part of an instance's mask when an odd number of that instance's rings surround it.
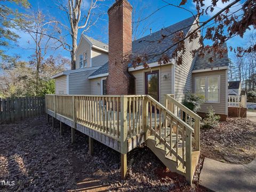
<svg viewBox="0 0 256 192">
<path fill-rule="evenodd" d="M 227 44 L 225 43 L 223 46 L 227 47 Z M 218 54 L 215 58 L 213 54 L 206 54 L 203 58 L 197 56 L 193 70 L 227 67 L 229 64 L 228 53 L 224 53 L 223 56 L 223 58 L 219 58 Z M 213 57 L 213 62 L 209 61 L 211 57 Z"/>
</svg>

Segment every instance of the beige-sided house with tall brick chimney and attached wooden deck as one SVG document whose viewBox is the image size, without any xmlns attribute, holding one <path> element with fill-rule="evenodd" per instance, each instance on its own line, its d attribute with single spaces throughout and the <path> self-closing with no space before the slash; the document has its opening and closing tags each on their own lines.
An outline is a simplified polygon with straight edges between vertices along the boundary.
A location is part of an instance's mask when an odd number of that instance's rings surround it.
<svg viewBox="0 0 256 192">
<path fill-rule="evenodd" d="M 149 57 L 150 69 L 134 68 L 123 59 L 125 55 L 159 54 L 172 45 L 170 31 L 182 29 L 187 34 L 198 26 L 197 21 L 191 17 L 132 42 L 130 3 L 117 0 L 108 15 L 109 44 L 83 35 L 76 69 L 53 76 L 57 95 L 46 95 L 47 117 L 58 119 L 60 126 L 69 125 L 72 141 L 74 130 L 89 135 L 90 153 L 93 139 L 121 153 L 122 178 L 126 154 L 146 142 L 171 171 L 191 184 L 200 154 L 201 117 L 181 102 L 188 91 L 203 94 L 207 100 L 202 115 L 212 106 L 226 119 L 228 55 L 211 63 L 211 54 L 193 57 L 190 51 L 199 47 L 198 37 L 185 41 L 182 65 L 175 60 L 159 65 L 157 57 Z M 167 36 L 158 43 L 162 35 Z"/>
</svg>

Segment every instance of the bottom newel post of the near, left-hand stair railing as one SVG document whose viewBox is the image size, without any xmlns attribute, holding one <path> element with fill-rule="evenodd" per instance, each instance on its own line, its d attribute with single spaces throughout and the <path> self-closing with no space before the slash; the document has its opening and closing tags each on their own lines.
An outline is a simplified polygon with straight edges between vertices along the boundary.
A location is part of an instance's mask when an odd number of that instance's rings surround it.
<svg viewBox="0 0 256 192">
<path fill-rule="evenodd" d="M 192 133 L 190 130 L 186 129 L 186 180 L 191 186 L 193 180 L 192 173 Z"/>
</svg>

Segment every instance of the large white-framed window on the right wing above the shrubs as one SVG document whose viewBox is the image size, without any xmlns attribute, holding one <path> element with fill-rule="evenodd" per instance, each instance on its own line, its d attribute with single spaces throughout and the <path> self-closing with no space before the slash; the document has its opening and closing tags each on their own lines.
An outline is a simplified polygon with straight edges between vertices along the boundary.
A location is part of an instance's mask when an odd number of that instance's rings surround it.
<svg viewBox="0 0 256 192">
<path fill-rule="evenodd" d="M 204 95 L 206 102 L 220 102 L 220 77 L 196 77 L 195 92 Z"/>
</svg>

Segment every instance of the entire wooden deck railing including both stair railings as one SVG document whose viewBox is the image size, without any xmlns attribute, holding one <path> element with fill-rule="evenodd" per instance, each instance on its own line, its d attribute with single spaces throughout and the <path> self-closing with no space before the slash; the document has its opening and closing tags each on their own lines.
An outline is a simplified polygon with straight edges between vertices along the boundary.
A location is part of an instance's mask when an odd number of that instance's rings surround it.
<svg viewBox="0 0 256 192">
<path fill-rule="evenodd" d="M 182 111 L 173 113 L 174 107 Z M 127 139 L 149 133 L 153 134 L 170 155 L 175 157 L 177 167 L 181 163 L 188 180 L 191 180 L 191 155 L 199 150 L 200 117 L 166 95 L 166 107 L 149 95 L 46 95 L 46 110 L 61 115 L 76 124 L 102 132 L 120 141 L 121 154 L 127 153 Z M 164 133 L 164 134 L 162 134 Z M 176 135 L 176 145 L 172 137 Z"/>
</svg>

